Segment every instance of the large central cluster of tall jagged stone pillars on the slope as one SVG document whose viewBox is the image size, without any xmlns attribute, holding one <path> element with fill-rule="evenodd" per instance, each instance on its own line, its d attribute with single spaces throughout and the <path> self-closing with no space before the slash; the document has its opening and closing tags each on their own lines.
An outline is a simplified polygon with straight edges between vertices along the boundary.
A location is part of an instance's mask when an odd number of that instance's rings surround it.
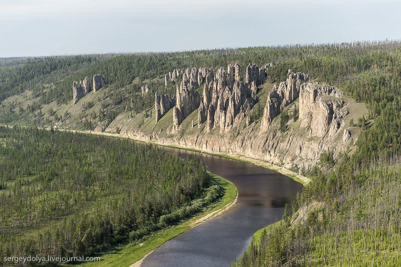
<svg viewBox="0 0 401 267">
<path fill-rule="evenodd" d="M 258 86 L 264 83 L 267 65 L 259 68 L 249 64 L 245 82 L 241 78 L 240 65 L 229 64 L 227 71 L 221 67 L 216 75 L 212 68 L 188 68 L 182 71 L 182 80 L 177 84 L 176 105 L 173 107 L 173 131 L 182 120 L 198 108 L 198 127 L 206 122 L 208 132 L 215 127 L 224 133 L 235 122 L 241 121 L 257 102 Z M 171 80 L 177 81 L 179 70 L 171 72 Z M 204 84 L 202 95 L 194 90 Z"/>
</svg>

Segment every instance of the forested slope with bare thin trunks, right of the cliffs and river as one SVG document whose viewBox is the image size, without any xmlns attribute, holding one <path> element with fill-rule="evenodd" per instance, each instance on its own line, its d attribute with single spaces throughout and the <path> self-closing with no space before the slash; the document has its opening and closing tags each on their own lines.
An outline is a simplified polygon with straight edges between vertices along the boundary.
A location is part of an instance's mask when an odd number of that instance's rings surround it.
<svg viewBox="0 0 401 267">
<path fill-rule="evenodd" d="M 370 107 L 358 123 L 355 153 L 322 154 L 311 182 L 281 223 L 269 227 L 235 265 L 389 265 L 401 263 L 401 50 L 364 47 L 338 57 L 287 59 L 270 71 L 307 69 Z M 333 50 L 335 51 L 335 50 Z M 345 57 L 346 56 L 346 57 Z M 308 210 L 304 217 L 301 212 Z"/>
</svg>

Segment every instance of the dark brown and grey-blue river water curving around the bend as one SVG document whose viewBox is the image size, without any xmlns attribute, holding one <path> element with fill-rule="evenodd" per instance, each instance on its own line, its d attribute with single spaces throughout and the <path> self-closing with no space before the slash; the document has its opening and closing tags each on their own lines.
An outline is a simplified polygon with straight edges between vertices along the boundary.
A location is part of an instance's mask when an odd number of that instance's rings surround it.
<svg viewBox="0 0 401 267">
<path fill-rule="evenodd" d="M 142 266 L 229 266 L 241 257 L 258 229 L 278 221 L 302 185 L 259 166 L 218 156 L 162 148 L 202 160 L 207 169 L 238 188 L 238 205 L 167 241 Z"/>
</svg>

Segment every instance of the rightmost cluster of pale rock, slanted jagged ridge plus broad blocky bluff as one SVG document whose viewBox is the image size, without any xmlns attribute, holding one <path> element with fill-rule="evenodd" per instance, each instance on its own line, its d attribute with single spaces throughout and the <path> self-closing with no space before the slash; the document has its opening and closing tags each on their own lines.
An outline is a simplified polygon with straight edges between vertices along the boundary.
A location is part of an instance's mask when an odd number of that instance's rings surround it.
<svg viewBox="0 0 401 267">
<path fill-rule="evenodd" d="M 287 79 L 278 87 L 275 84 L 268 94 L 260 130 L 268 130 L 273 119 L 299 98 L 300 127 L 307 127 L 310 136 L 331 138 L 348 114 L 343 96 L 333 86 L 312 82 L 309 75 L 288 70 Z M 343 140 L 349 137 L 350 131 L 344 131 Z"/>
</svg>

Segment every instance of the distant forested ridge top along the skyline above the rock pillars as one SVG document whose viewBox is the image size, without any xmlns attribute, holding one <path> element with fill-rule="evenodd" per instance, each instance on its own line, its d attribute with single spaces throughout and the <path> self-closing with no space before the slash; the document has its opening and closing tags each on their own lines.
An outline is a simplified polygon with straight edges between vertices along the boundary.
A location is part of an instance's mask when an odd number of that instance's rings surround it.
<svg viewBox="0 0 401 267">
<path fill-rule="evenodd" d="M 283 80 L 287 72 L 285 68 L 290 65 L 291 68 L 299 67 L 304 72 L 322 76 L 326 82 L 335 82 L 377 64 L 375 54 L 381 54 L 387 61 L 394 60 L 393 56 L 399 54 L 400 49 L 401 44 L 394 41 L 9 59 L 5 61 L 8 65 L 0 65 L 0 77 L 4 77 L 0 83 L 0 100 L 25 89 L 35 89 L 40 93 L 45 81 L 56 84 L 48 93 L 47 102 L 56 100 L 66 103 L 72 98 L 74 80 L 97 73 L 105 75 L 107 84 L 119 88 L 137 77 L 149 79 L 164 76 L 175 68 L 216 68 L 235 62 L 243 66 L 243 73 L 249 63 L 260 66 L 279 63 L 279 70 L 271 75 L 277 81 Z M 11 65 L 11 62 L 15 64 Z M 159 85 L 162 89 L 161 82 Z"/>
</svg>

